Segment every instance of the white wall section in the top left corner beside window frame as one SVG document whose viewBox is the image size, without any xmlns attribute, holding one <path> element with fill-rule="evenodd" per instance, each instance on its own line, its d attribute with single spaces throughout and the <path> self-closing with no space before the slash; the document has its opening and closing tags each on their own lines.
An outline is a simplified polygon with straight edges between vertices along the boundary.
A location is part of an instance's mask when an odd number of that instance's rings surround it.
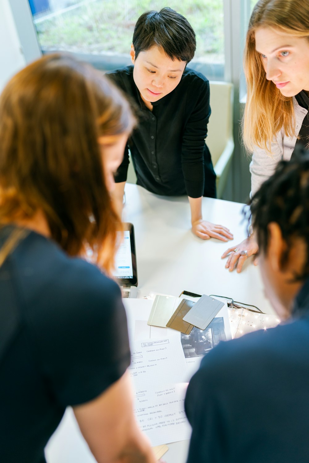
<svg viewBox="0 0 309 463">
<path fill-rule="evenodd" d="M 11 7 L 8 0 L 0 0 L 0 92 L 6 82 L 25 66 Z"/>
</svg>

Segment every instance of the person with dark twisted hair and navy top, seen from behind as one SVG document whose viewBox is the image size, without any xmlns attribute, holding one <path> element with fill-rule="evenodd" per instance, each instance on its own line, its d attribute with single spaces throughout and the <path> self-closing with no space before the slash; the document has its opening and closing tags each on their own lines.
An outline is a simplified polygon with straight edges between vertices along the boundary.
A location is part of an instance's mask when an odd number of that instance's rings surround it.
<svg viewBox="0 0 309 463">
<path fill-rule="evenodd" d="M 308 461 L 308 153 L 277 165 L 251 213 L 265 294 L 284 321 L 203 358 L 185 400 L 188 463 Z"/>
</svg>

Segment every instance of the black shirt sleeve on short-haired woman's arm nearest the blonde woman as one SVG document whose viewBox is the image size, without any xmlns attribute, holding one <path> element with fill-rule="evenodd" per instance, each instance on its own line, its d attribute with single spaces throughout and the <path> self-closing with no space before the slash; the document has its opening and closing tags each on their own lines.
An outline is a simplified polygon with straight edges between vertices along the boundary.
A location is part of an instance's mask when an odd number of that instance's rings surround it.
<svg viewBox="0 0 309 463">
<path fill-rule="evenodd" d="M 210 112 L 209 82 L 200 80 L 196 105 L 183 133 L 182 169 L 186 191 L 191 198 L 199 198 L 204 191 L 203 154 Z"/>
</svg>

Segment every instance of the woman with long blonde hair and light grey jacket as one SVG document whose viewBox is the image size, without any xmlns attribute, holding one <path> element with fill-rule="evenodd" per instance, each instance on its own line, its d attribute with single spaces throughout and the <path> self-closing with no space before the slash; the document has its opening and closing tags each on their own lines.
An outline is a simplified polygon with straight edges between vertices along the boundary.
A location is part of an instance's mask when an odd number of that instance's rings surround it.
<svg viewBox="0 0 309 463">
<path fill-rule="evenodd" d="M 244 144 L 252 153 L 251 194 L 290 160 L 296 144 L 309 142 L 309 2 L 259 0 L 246 36 L 244 69 L 247 102 Z M 222 256 L 240 272 L 258 252 L 254 233 Z"/>
</svg>

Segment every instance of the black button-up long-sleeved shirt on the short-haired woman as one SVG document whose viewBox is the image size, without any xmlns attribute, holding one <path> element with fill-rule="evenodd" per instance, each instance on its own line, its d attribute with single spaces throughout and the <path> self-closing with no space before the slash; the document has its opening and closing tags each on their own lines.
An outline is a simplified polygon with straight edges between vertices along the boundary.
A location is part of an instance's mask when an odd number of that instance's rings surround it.
<svg viewBox="0 0 309 463">
<path fill-rule="evenodd" d="M 204 139 L 210 116 L 209 82 L 185 69 L 177 87 L 150 111 L 133 80 L 133 66 L 107 76 L 138 107 L 138 127 L 128 141 L 137 184 L 156 194 L 215 197 L 215 173 Z M 126 181 L 128 150 L 116 182 Z"/>
</svg>

